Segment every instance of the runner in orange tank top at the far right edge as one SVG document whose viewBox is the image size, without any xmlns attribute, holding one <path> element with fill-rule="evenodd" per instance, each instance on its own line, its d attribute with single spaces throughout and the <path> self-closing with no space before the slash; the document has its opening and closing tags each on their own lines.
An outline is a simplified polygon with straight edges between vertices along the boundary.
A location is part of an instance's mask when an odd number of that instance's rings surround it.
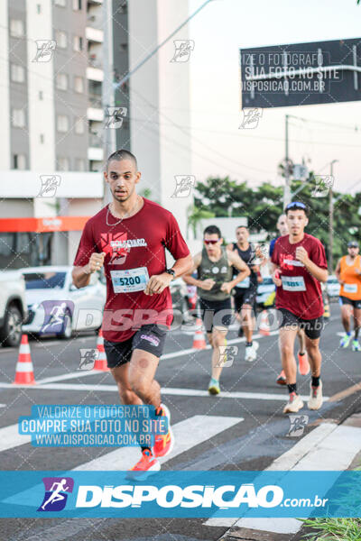
<svg viewBox="0 0 361 541">
<path fill-rule="evenodd" d="M 341 305 L 342 325 L 345 335 L 342 336 L 340 346 L 347 348 L 351 340 L 350 318 L 354 316 L 354 338 L 352 340 L 352 351 L 361 351 L 358 342 L 358 331 L 361 326 L 361 256 L 356 241 L 347 244 L 347 255 L 338 261 L 335 274 L 341 284 L 339 290 L 339 304 Z"/>
</svg>

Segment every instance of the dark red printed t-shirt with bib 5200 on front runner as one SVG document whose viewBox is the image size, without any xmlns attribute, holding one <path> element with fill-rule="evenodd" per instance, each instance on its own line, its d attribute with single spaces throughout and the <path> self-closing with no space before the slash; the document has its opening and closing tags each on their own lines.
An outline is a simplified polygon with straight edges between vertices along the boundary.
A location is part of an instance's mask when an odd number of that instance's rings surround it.
<svg viewBox="0 0 361 541">
<path fill-rule="evenodd" d="M 106 225 L 106 215 L 110 225 Z M 84 266 L 93 252 L 106 252 L 102 331 L 109 342 L 124 342 L 142 325 L 171 325 L 170 289 L 150 296 L 143 293 L 144 285 L 165 271 L 165 248 L 175 260 L 190 253 L 175 217 L 149 199 L 143 197 L 135 215 L 118 221 L 107 206 L 90 218 L 74 260 L 75 266 Z"/>
</svg>

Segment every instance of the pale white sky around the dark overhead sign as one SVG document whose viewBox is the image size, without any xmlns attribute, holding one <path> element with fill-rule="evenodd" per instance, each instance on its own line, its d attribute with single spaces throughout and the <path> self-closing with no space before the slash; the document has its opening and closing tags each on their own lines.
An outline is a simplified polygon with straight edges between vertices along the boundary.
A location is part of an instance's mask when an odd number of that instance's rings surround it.
<svg viewBox="0 0 361 541">
<path fill-rule="evenodd" d="M 203 3 L 189 0 L 190 14 Z M 206 5 L 189 24 L 189 38 L 195 41 L 189 61 L 196 179 L 229 175 L 251 186 L 265 180 L 282 183 L 277 165 L 285 155 L 288 114 L 307 121 L 290 121 L 293 162 L 304 158 L 316 174 L 326 175 L 329 162 L 338 160 L 334 189 L 361 191 L 361 101 L 266 108 L 255 129 L 239 129 L 240 48 L 357 37 L 361 38 L 361 5 L 356 0 L 213 0 Z"/>
</svg>

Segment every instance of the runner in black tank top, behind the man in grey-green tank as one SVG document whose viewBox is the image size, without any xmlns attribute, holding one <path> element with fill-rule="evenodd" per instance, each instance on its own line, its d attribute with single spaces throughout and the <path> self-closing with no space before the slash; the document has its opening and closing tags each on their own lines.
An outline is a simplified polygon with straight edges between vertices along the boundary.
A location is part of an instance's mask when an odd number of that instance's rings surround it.
<svg viewBox="0 0 361 541">
<path fill-rule="evenodd" d="M 248 242 L 249 231 L 245 225 L 236 228 L 236 243 L 227 245 L 229 252 L 236 252 L 240 258 L 248 265 L 251 274 L 243 282 L 237 284 L 235 288 L 235 308 L 236 317 L 245 334 L 245 361 L 253 362 L 257 357 L 259 344 L 252 341 L 254 331 L 253 312 L 255 297 L 257 294 L 257 271 L 255 265 L 255 251 L 252 250 Z M 257 254 L 258 255 L 258 254 Z"/>
</svg>

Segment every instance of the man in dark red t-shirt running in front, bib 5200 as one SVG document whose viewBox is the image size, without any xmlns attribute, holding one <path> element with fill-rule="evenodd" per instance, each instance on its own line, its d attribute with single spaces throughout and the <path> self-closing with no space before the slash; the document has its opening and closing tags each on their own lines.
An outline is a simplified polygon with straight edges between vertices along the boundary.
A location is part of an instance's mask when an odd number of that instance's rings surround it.
<svg viewBox="0 0 361 541">
<path fill-rule="evenodd" d="M 85 225 L 72 273 L 77 288 L 88 285 L 90 274 L 105 268 L 106 306 L 102 331 L 107 365 L 123 404 L 149 404 L 157 416 L 171 415 L 161 403 L 154 374 L 171 326 L 169 285 L 189 271 L 190 251 L 171 212 L 139 196 L 141 179 L 134 155 L 125 150 L 111 154 L 104 173 L 113 201 Z M 166 268 L 165 248 L 175 262 Z M 142 447 L 134 472 L 161 469 L 157 460 L 171 453 L 174 438 L 155 436 L 153 448 Z"/>
</svg>

